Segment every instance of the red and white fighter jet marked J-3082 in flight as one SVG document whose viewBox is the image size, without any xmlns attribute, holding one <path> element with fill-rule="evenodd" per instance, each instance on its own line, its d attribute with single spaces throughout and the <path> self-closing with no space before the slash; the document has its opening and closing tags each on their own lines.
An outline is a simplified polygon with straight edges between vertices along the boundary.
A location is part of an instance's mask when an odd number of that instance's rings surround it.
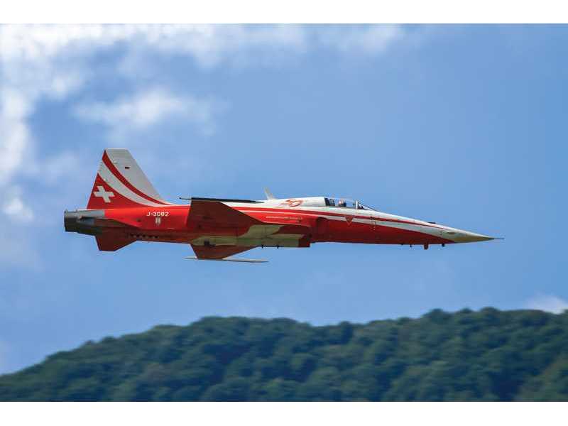
<svg viewBox="0 0 568 426">
<path fill-rule="evenodd" d="M 310 247 L 313 243 L 430 244 L 494 239 L 433 222 L 378 212 L 334 197 L 266 200 L 192 197 L 172 204 L 160 197 L 129 151 L 104 151 L 87 209 L 65 211 L 65 231 L 93 235 L 99 250 L 134 241 L 191 244 L 196 257 L 214 261 L 255 247 Z"/>
</svg>

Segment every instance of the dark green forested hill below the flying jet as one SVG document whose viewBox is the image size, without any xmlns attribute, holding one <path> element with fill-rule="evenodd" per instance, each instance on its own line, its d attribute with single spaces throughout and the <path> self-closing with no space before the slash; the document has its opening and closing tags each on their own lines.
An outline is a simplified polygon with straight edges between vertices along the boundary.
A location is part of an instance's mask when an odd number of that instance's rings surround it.
<svg viewBox="0 0 568 426">
<path fill-rule="evenodd" d="M 568 400 L 568 312 L 208 317 L 59 352 L 0 376 L 0 400 Z"/>
</svg>

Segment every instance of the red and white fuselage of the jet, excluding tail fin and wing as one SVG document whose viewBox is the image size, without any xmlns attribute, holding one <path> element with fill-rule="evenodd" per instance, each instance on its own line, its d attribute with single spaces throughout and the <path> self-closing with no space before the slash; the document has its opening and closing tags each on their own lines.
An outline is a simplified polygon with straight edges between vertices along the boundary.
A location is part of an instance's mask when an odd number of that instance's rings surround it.
<svg viewBox="0 0 568 426">
<path fill-rule="evenodd" d="M 207 244 L 207 241 L 210 244 L 219 244 L 219 241 L 222 241 L 223 244 L 265 247 L 307 247 L 312 243 L 323 242 L 430 245 L 492 239 L 449 226 L 374 210 L 302 207 L 301 204 L 290 207 L 289 200 L 258 201 L 254 204 L 224 203 L 264 224 L 280 227 L 276 234 L 268 235 L 262 231 L 261 234 L 247 235 L 251 234 L 251 226 L 231 226 L 216 222 L 192 223 L 188 220 L 191 205 L 187 204 L 159 208 L 129 207 L 67 212 L 65 226 L 68 231 L 74 230 L 74 226 L 78 225 L 77 231 L 80 233 L 114 234 L 121 239 L 127 237 L 136 241 L 183 244 Z M 310 229 L 310 234 L 303 241 L 302 238 L 290 237 L 290 234 L 285 232 L 286 225 L 306 226 Z M 278 238 L 278 235 L 282 235 L 282 238 Z"/>
</svg>

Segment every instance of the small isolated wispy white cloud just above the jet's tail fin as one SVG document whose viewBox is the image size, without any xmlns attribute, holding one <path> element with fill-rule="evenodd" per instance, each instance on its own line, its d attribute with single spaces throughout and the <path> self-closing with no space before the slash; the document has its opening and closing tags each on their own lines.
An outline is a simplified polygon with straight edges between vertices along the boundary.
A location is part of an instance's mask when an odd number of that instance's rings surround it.
<svg viewBox="0 0 568 426">
<path fill-rule="evenodd" d="M 213 129 L 214 114 L 222 102 L 191 96 L 176 96 L 158 87 L 121 97 L 114 102 L 81 104 L 75 110 L 81 119 L 106 124 L 115 132 L 121 129 L 146 129 L 168 117 L 178 116 L 198 124 L 205 133 Z"/>
</svg>

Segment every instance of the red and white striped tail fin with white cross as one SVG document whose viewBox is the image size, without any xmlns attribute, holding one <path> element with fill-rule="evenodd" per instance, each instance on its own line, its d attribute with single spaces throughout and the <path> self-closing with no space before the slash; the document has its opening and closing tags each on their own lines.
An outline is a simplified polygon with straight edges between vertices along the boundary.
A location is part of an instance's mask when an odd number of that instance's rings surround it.
<svg viewBox="0 0 568 426">
<path fill-rule="evenodd" d="M 164 205 L 170 203 L 162 200 L 127 149 L 104 150 L 87 209 Z"/>
</svg>

